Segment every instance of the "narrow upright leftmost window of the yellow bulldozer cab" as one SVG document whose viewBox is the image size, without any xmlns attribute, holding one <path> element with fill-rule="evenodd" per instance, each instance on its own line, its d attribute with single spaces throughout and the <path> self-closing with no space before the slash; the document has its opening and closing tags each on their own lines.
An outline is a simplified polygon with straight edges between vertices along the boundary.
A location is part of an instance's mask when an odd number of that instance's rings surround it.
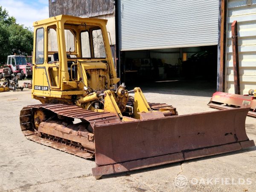
<svg viewBox="0 0 256 192">
<path fill-rule="evenodd" d="M 36 44 L 35 44 L 35 63 L 44 63 L 44 29 L 36 30 Z"/>
</svg>

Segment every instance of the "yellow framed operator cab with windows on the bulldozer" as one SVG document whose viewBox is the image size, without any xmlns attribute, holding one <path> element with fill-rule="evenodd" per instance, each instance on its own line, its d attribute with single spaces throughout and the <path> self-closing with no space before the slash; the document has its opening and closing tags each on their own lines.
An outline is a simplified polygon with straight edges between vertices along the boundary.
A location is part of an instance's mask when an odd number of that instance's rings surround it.
<svg viewBox="0 0 256 192">
<path fill-rule="evenodd" d="M 49 84 L 48 90 L 114 87 L 119 79 L 116 78 L 106 23 L 102 19 L 67 15 L 34 23 L 33 60 L 38 75 L 45 74 L 44 84 Z"/>
</svg>

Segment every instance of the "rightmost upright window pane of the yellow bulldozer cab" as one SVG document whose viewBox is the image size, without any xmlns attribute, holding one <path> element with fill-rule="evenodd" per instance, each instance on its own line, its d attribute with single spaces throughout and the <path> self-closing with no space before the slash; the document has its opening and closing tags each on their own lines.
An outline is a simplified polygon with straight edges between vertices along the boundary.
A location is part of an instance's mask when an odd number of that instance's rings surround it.
<svg viewBox="0 0 256 192">
<path fill-rule="evenodd" d="M 93 52 L 95 58 L 106 58 L 106 50 L 102 37 L 102 30 L 95 29 L 92 32 L 93 36 Z"/>
</svg>

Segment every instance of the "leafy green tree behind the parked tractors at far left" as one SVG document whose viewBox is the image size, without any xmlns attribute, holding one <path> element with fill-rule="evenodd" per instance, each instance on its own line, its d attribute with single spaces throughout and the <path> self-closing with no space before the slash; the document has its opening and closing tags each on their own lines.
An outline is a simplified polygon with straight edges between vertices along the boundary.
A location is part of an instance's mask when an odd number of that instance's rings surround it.
<svg viewBox="0 0 256 192">
<path fill-rule="evenodd" d="M 0 63 L 6 63 L 8 55 L 31 55 L 32 50 L 33 33 L 0 6 Z"/>
</svg>

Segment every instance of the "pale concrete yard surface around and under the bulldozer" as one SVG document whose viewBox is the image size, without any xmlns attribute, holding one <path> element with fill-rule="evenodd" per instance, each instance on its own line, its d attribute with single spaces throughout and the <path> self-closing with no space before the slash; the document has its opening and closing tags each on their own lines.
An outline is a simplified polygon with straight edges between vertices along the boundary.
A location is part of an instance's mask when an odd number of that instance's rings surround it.
<svg viewBox="0 0 256 192">
<path fill-rule="evenodd" d="M 27 81 L 29 82 L 29 81 Z M 22 84 L 22 81 L 20 81 Z M 141 86 L 148 102 L 168 103 L 179 115 L 215 111 L 207 106 L 215 87 L 172 83 Z M 207 87 L 207 86 L 206 86 Z M 256 147 L 180 163 L 140 169 L 96 180 L 85 160 L 27 140 L 19 125 L 23 106 L 40 104 L 31 90 L 0 93 L 0 192 L 3 191 L 237 191 L 256 189 Z M 256 141 L 256 119 L 246 131 Z M 131 141 L 132 142 L 132 141 Z"/>
</svg>

